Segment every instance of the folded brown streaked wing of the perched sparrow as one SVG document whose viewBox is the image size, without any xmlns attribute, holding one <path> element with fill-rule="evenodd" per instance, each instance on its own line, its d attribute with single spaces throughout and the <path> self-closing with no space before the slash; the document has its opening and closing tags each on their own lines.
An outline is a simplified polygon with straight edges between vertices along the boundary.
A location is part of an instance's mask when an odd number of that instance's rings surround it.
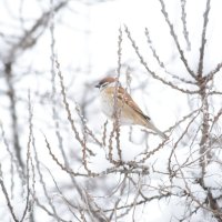
<svg viewBox="0 0 222 222">
<path fill-rule="evenodd" d="M 131 95 L 121 87 L 118 88 L 118 99 L 122 101 L 124 104 L 129 105 L 131 109 L 133 109 L 138 114 L 140 114 L 142 118 L 145 118 L 148 121 L 151 120 L 148 115 L 145 115 L 142 110 L 138 107 L 138 104 L 133 101 Z"/>
</svg>

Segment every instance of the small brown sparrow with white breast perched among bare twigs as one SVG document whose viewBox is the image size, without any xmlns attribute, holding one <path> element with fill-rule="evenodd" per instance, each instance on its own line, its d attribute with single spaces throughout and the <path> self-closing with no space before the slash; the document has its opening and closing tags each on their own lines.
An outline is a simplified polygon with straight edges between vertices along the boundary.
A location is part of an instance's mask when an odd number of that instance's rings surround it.
<svg viewBox="0 0 222 222">
<path fill-rule="evenodd" d="M 162 139 L 167 135 L 142 112 L 131 95 L 121 87 L 117 78 L 105 77 L 95 85 L 100 90 L 100 102 L 103 113 L 111 120 L 118 115 L 120 125 L 142 125 L 154 131 Z M 120 112 L 115 112 L 115 110 Z"/>
</svg>

